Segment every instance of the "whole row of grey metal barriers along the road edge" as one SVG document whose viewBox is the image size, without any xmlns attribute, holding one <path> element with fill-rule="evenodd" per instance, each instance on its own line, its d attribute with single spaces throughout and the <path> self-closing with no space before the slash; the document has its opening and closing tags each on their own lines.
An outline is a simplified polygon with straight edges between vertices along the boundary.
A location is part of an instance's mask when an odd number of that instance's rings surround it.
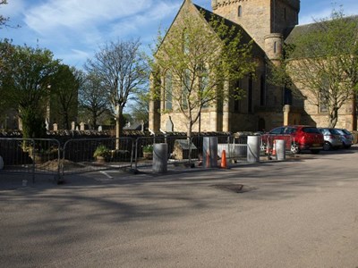
<svg viewBox="0 0 358 268">
<path fill-rule="evenodd" d="M 0 138 L 0 155 L 4 170 L 0 172 L 55 175 L 55 180 L 83 172 L 113 169 L 141 169 L 152 165 L 156 143 L 166 143 L 168 164 L 196 163 L 203 155 L 204 136 L 160 136 L 141 138 L 83 138 L 70 139 L 61 145 L 50 138 Z M 268 139 L 270 144 L 271 139 Z M 231 163 L 246 161 L 247 136 L 217 136 L 217 158 L 226 150 Z M 268 152 L 269 153 L 269 152 Z M 102 157 L 100 157 L 102 156 Z"/>
</svg>

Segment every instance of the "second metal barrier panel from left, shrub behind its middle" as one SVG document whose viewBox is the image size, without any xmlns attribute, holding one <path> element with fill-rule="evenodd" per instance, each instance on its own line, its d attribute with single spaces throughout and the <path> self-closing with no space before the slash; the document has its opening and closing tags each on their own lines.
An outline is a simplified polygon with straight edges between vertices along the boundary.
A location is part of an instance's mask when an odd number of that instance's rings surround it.
<svg viewBox="0 0 358 268">
<path fill-rule="evenodd" d="M 71 139 L 64 144 L 62 174 L 132 167 L 132 138 Z"/>
</svg>

